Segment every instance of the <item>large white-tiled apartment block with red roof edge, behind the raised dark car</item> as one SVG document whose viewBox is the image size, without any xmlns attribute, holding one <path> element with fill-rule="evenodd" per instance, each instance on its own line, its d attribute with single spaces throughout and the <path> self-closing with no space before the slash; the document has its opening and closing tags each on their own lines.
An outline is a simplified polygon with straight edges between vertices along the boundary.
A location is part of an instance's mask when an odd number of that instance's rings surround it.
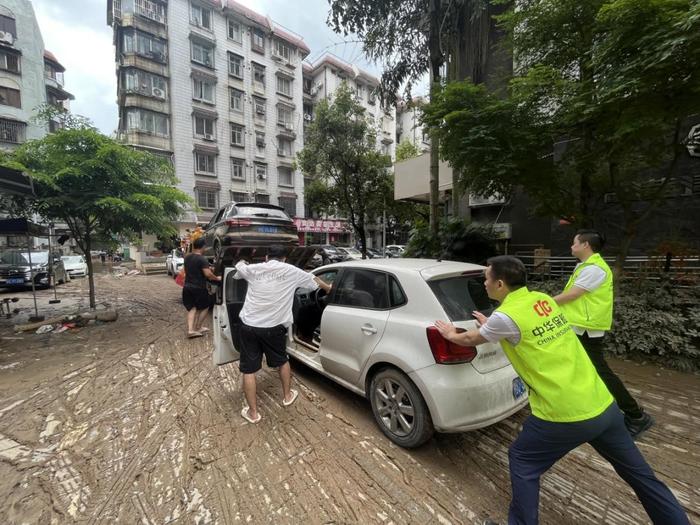
<svg viewBox="0 0 700 525">
<path fill-rule="evenodd" d="M 233 201 L 304 212 L 303 39 L 233 0 L 108 0 L 119 134 L 171 159 L 191 210 L 181 232 Z"/>
</svg>

